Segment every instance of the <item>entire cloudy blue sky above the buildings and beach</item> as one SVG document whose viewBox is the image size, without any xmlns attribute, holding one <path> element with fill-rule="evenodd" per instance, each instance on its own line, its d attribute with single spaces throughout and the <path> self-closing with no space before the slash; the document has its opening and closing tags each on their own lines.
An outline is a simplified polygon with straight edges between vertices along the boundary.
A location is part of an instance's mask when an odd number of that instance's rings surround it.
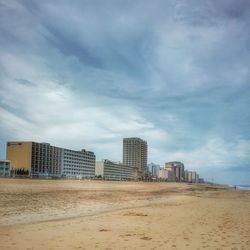
<svg viewBox="0 0 250 250">
<path fill-rule="evenodd" d="M 250 1 L 0 0 L 0 158 L 37 141 L 250 185 Z"/>
</svg>

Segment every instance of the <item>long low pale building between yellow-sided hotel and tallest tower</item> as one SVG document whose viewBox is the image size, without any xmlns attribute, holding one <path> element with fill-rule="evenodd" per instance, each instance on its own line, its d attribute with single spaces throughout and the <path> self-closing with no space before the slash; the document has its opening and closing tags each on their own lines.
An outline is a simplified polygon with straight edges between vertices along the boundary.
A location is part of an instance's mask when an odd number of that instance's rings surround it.
<svg viewBox="0 0 250 250">
<path fill-rule="evenodd" d="M 133 166 L 109 160 L 96 162 L 95 175 L 101 176 L 105 180 L 131 180 L 134 178 L 134 174 Z"/>
</svg>

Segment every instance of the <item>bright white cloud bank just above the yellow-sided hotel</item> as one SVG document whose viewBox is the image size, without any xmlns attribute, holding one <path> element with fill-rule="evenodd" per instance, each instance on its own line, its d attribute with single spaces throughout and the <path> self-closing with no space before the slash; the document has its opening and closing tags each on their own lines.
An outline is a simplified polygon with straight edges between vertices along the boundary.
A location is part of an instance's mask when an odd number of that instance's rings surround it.
<svg viewBox="0 0 250 250">
<path fill-rule="evenodd" d="M 99 103 L 89 103 L 88 96 L 82 94 L 79 100 L 74 90 L 53 82 L 27 84 L 18 79 L 2 85 L 0 96 L 3 121 L 0 126 L 10 140 L 46 140 L 75 149 L 82 145 L 92 149 L 98 143 L 110 142 L 113 148 L 112 143 L 119 144 L 126 134 L 152 133 L 153 125 L 133 107 L 119 103 L 112 108 L 107 104 L 100 107 Z M 105 149 L 112 157 L 108 145 Z"/>
</svg>

